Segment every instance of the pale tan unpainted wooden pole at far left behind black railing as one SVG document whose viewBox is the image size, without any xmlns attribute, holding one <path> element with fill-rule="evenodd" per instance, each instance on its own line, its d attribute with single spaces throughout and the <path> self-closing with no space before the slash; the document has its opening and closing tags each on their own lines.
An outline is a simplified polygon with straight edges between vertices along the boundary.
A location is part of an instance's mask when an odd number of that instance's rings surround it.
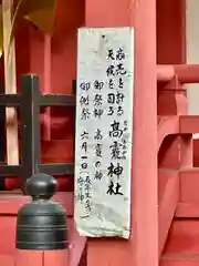
<svg viewBox="0 0 199 266">
<path fill-rule="evenodd" d="M 3 47 L 4 47 L 4 85 L 7 94 L 17 93 L 15 47 L 12 40 L 9 51 L 9 40 L 12 27 L 12 0 L 2 0 Z M 6 109 L 7 121 L 7 162 L 9 165 L 19 164 L 18 119 L 14 108 Z"/>
</svg>

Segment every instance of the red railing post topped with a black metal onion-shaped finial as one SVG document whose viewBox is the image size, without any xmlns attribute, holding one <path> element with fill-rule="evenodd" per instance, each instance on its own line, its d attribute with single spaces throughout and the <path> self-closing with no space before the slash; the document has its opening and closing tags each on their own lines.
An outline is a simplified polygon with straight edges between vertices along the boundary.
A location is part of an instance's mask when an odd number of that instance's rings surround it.
<svg viewBox="0 0 199 266">
<path fill-rule="evenodd" d="M 51 197 L 56 180 L 38 174 L 27 182 L 32 202 L 18 212 L 15 266 L 69 266 L 66 212 Z"/>
</svg>

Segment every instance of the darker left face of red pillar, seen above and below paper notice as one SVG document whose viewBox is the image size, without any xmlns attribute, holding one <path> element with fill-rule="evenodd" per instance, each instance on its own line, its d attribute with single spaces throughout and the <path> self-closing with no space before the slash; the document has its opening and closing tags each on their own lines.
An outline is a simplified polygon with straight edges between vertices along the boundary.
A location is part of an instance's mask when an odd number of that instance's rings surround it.
<svg viewBox="0 0 199 266">
<path fill-rule="evenodd" d="M 112 10 L 104 16 L 105 10 Z M 132 10 L 133 11 L 133 10 Z M 85 0 L 86 27 L 123 27 L 132 25 L 133 13 L 128 0 Z M 134 209 L 135 211 L 135 209 Z M 134 231 L 135 234 L 135 231 Z M 121 266 L 135 264 L 133 239 L 130 242 L 115 239 L 88 239 L 87 266 Z M 142 264 L 140 264 L 142 265 Z"/>
</svg>

